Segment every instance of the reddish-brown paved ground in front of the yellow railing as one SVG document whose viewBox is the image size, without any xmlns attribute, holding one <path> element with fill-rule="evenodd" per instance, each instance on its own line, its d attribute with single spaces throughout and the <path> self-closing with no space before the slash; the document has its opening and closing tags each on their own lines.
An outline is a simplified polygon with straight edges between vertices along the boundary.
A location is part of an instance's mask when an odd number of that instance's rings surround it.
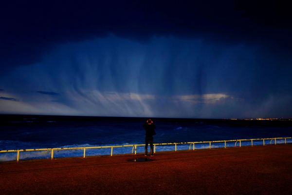
<svg viewBox="0 0 292 195">
<path fill-rule="evenodd" d="M 0 163 L 0 195 L 291 195 L 292 145 Z"/>
</svg>

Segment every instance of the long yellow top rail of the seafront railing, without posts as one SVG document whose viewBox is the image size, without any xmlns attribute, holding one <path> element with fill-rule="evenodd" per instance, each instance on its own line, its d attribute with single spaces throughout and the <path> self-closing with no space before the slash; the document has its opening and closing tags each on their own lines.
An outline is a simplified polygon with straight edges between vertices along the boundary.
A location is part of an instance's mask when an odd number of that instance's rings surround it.
<svg viewBox="0 0 292 195">
<path fill-rule="evenodd" d="M 196 143 L 218 143 L 218 142 L 230 142 L 230 141 L 251 141 L 251 140 L 263 140 L 263 139 L 291 139 L 292 137 L 272 137 L 272 138 L 253 138 L 253 139 L 231 139 L 231 140 L 219 140 L 219 141 L 191 141 L 191 142 L 174 142 L 174 143 L 155 143 L 153 145 L 174 145 L 174 144 L 196 144 Z M 15 149 L 15 150 L 0 150 L 0 153 L 6 152 L 30 152 L 30 151 L 49 151 L 49 150 L 81 150 L 81 149 L 96 149 L 96 148 L 121 148 L 121 147 L 134 147 L 144 146 L 145 144 L 130 144 L 130 145 L 113 145 L 113 146 L 86 146 L 86 147 L 66 147 L 66 148 L 37 148 L 37 149 Z"/>
</svg>

